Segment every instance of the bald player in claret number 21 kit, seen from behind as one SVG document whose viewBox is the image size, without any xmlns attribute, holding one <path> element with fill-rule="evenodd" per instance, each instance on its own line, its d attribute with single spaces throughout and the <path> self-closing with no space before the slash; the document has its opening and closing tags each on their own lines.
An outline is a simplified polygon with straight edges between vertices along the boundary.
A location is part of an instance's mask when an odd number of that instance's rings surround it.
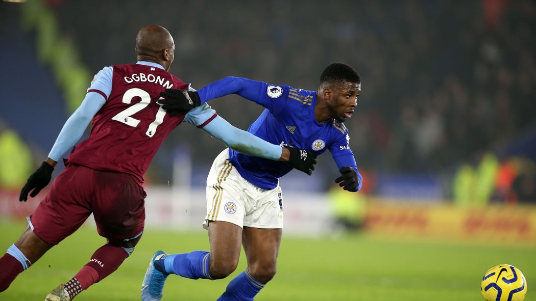
<svg viewBox="0 0 536 301">
<path fill-rule="evenodd" d="M 303 160 L 302 151 L 283 149 L 237 129 L 208 105 L 187 114 L 166 112 L 158 104 L 166 88 L 190 89 L 168 73 L 174 42 L 158 25 L 140 29 L 136 38 L 137 64 L 101 70 L 80 107 L 66 121 L 48 158 L 32 174 L 19 200 L 35 197 L 47 186 L 54 166 L 83 135 L 92 121 L 90 136 L 69 155 L 65 170 L 52 183 L 49 194 L 28 218 L 23 235 L 0 258 L 0 291 L 35 263 L 52 246 L 76 231 L 93 213 L 106 244 L 65 284 L 46 300 L 71 300 L 80 291 L 113 273 L 133 251 L 145 221 L 144 173 L 163 139 L 182 121 L 202 128 L 231 148 L 249 155 L 286 161 L 308 174 L 316 159 Z M 316 157 L 310 154 L 311 157 Z M 1 299 L 1 298 L 0 298 Z"/>
</svg>

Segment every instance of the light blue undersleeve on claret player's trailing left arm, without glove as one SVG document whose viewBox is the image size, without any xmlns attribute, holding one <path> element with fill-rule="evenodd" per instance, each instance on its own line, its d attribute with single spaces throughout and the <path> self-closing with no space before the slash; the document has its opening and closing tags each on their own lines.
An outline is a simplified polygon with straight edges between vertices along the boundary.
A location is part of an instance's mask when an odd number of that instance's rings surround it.
<svg viewBox="0 0 536 301">
<path fill-rule="evenodd" d="M 48 157 L 57 162 L 66 151 L 75 146 L 90 124 L 91 119 L 105 103 L 106 99 L 99 93 L 90 92 L 86 94 L 78 109 L 72 113 L 71 117 L 63 125 Z"/>
</svg>

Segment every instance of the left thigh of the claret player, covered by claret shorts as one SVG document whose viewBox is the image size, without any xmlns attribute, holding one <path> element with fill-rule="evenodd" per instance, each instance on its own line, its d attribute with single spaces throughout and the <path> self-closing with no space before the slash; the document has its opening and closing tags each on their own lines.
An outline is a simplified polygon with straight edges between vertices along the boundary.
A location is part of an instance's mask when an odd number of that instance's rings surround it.
<svg viewBox="0 0 536 301">
<path fill-rule="evenodd" d="M 28 219 L 33 233 L 56 245 L 75 232 L 91 214 L 92 185 L 92 169 L 65 168 Z"/>
</svg>

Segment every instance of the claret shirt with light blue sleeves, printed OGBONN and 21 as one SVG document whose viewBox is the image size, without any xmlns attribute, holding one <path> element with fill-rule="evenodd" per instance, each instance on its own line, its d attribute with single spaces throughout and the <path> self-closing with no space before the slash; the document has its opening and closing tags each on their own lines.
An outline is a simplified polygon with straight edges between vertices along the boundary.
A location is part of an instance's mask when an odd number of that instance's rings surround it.
<svg viewBox="0 0 536 301">
<path fill-rule="evenodd" d="M 171 116 L 157 104 L 166 88 L 188 89 L 189 85 L 154 63 L 105 67 L 89 92 L 106 98 L 92 120 L 91 134 L 75 147 L 68 163 L 99 171 L 131 174 L 143 185 L 143 175 L 164 138 L 185 118 Z M 187 121 L 196 126 L 210 122 L 210 106 L 192 110 Z M 188 114 L 190 114 L 188 113 Z M 188 115 L 187 115 L 188 116 Z"/>
</svg>

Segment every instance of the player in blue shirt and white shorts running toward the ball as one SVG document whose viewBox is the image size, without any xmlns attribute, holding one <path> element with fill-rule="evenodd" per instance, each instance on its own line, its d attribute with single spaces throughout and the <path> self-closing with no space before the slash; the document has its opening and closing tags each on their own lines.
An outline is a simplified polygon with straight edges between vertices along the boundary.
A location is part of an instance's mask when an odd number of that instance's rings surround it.
<svg viewBox="0 0 536 301">
<path fill-rule="evenodd" d="M 330 150 L 341 173 L 335 181 L 345 190 L 358 191 L 362 176 L 343 122 L 352 117 L 360 91 L 359 74 L 336 63 L 325 68 L 317 91 L 228 77 L 199 92 L 166 89 L 161 95 L 167 99 L 161 103 L 170 112 L 183 113 L 213 98 L 238 94 L 263 105 L 266 109 L 248 132 L 271 143 L 305 149 L 307 154 Z M 203 226 L 209 230 L 210 252 L 154 253 L 142 284 L 142 300 L 160 300 L 169 274 L 190 279 L 227 277 L 236 269 L 241 244 L 248 267 L 230 281 L 218 300 L 253 300 L 276 274 L 283 228 L 278 178 L 290 170 L 285 164 L 235 150 L 221 152 L 207 179 Z"/>
</svg>

